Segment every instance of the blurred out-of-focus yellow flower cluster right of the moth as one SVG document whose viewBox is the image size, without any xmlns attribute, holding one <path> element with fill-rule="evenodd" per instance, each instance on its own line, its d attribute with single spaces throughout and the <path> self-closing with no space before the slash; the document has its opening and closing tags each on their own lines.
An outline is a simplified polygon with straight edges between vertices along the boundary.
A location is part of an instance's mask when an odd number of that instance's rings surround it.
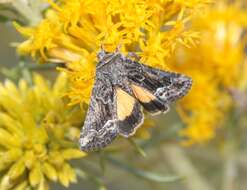
<svg viewBox="0 0 247 190">
<path fill-rule="evenodd" d="M 189 126 L 181 131 L 189 139 L 186 144 L 214 137 L 233 105 L 230 90 L 247 86 L 246 9 L 218 1 L 195 16 L 192 28 L 201 33 L 199 46 L 180 48 L 169 64 L 194 80 L 192 91 L 179 108 Z"/>
</svg>

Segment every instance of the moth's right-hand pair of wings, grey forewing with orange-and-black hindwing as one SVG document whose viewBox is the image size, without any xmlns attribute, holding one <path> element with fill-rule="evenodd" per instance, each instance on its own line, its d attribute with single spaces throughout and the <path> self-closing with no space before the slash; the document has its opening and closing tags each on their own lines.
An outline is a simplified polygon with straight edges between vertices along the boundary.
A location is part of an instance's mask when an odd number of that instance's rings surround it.
<svg viewBox="0 0 247 190">
<path fill-rule="evenodd" d="M 128 61 L 125 67 L 133 93 L 151 113 L 167 111 L 168 104 L 186 95 L 192 85 L 192 80 L 185 75 L 162 71 L 135 61 Z"/>
</svg>

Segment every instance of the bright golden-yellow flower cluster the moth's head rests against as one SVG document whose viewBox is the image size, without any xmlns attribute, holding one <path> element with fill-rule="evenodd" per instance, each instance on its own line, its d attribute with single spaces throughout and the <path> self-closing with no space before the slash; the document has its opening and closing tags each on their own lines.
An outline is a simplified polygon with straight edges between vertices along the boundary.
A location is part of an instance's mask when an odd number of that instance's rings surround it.
<svg viewBox="0 0 247 190">
<path fill-rule="evenodd" d="M 141 61 L 159 68 L 177 44 L 198 38 L 186 23 L 209 0 L 49 0 L 51 8 L 36 27 L 16 25 L 28 40 L 21 54 L 67 63 L 71 104 L 88 102 L 101 45 L 136 52 Z"/>
</svg>

